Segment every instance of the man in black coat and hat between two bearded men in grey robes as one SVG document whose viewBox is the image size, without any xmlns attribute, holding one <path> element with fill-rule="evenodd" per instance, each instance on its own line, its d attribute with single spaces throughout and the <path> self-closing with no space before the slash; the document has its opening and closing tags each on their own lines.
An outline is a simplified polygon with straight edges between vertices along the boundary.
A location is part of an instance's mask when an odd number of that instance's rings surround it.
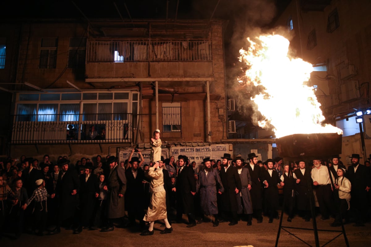
<svg viewBox="0 0 371 247">
<path fill-rule="evenodd" d="M 223 167 L 220 169 L 220 179 L 224 186 L 224 193 L 221 194 L 223 210 L 222 217 L 224 220 L 226 220 L 226 214 L 232 214 L 232 219 L 230 220 L 229 226 L 234 226 L 238 223 L 236 194 L 241 191 L 241 179 L 237 169 L 230 164 L 232 160 L 232 158 L 230 158 L 230 154 L 226 153 L 222 158 Z M 221 222 L 224 222 L 224 220 Z"/>
</svg>

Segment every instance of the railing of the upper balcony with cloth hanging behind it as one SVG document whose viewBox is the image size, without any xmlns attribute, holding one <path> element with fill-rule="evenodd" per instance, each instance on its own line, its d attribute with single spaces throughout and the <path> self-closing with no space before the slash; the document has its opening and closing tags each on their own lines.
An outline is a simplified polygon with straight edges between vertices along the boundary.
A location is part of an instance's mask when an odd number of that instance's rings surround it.
<svg viewBox="0 0 371 247">
<path fill-rule="evenodd" d="M 210 40 L 88 41 L 87 62 L 211 61 Z"/>
</svg>

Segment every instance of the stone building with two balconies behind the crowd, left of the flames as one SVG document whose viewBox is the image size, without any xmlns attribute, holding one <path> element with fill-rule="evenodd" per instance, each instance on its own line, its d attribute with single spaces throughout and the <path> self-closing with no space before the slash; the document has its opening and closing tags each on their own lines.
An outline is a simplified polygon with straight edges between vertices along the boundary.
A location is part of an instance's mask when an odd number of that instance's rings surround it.
<svg viewBox="0 0 371 247">
<path fill-rule="evenodd" d="M 222 20 L 1 24 L 7 153 L 116 154 L 148 147 L 155 128 L 168 146 L 220 143 L 227 134 L 225 27 Z"/>
</svg>

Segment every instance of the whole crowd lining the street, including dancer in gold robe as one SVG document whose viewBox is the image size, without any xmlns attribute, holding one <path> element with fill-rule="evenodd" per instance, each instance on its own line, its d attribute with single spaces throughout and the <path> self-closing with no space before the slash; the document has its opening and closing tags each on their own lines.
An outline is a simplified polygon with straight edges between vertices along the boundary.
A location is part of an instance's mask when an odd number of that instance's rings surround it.
<svg viewBox="0 0 371 247">
<path fill-rule="evenodd" d="M 153 143 L 160 145 L 157 139 Z M 253 218 L 262 223 L 263 216 L 272 223 L 279 219 L 282 187 L 287 221 L 297 216 L 310 221 L 315 201 L 320 219 L 333 217 L 334 227 L 351 220 L 364 226 L 370 219 L 370 162 L 359 164 L 358 154 L 352 154 L 348 169 L 338 155 L 285 165 L 280 157 L 257 158 L 250 153 L 245 162 L 226 153 L 216 161 L 206 157 L 197 166 L 179 155 L 144 164 L 141 151 L 132 149 L 121 163 L 115 156 L 104 162 L 99 155 L 75 164 L 67 157 L 52 163 L 47 154 L 40 163 L 25 156 L 8 159 L 0 163 L 0 234 L 6 229 L 16 237 L 24 231 L 43 236 L 58 234 L 61 227 L 74 234 L 109 232 L 115 222 L 116 227 L 139 226 L 147 236 L 157 220 L 166 234 L 173 231 L 171 224 L 184 223 L 183 214 L 187 227 L 204 221 L 233 226 L 240 220 L 251 226 Z"/>
</svg>

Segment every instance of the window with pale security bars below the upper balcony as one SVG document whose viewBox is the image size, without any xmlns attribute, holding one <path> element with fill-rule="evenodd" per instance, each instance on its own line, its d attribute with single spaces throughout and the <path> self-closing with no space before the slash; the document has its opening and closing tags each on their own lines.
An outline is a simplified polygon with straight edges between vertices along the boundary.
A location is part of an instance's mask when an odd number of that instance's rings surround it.
<svg viewBox="0 0 371 247">
<path fill-rule="evenodd" d="M 180 103 L 162 103 L 162 127 L 164 132 L 181 131 Z"/>
</svg>

